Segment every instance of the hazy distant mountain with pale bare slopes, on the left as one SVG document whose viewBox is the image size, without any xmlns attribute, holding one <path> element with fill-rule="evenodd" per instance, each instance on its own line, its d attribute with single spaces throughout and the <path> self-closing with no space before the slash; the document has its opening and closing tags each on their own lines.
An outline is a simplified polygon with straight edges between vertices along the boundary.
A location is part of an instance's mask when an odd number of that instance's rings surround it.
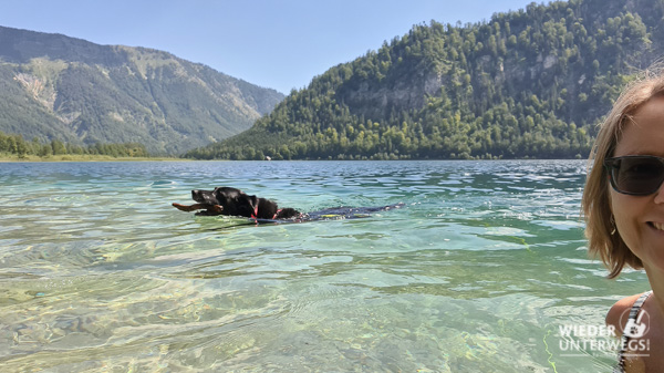
<svg viewBox="0 0 664 373">
<path fill-rule="evenodd" d="M 283 95 L 145 48 L 0 27 L 0 131 L 181 154 L 248 129 Z"/>
</svg>

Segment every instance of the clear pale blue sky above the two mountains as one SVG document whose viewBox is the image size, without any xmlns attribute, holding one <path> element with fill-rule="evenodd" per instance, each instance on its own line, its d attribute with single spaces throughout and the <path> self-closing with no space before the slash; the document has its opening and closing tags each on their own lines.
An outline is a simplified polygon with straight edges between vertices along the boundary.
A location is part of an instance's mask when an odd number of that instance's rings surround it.
<svg viewBox="0 0 664 373">
<path fill-rule="evenodd" d="M 530 2 L 0 0 L 0 25 L 98 44 L 154 48 L 288 94 L 329 68 L 407 33 L 414 24 L 474 23 Z"/>
</svg>

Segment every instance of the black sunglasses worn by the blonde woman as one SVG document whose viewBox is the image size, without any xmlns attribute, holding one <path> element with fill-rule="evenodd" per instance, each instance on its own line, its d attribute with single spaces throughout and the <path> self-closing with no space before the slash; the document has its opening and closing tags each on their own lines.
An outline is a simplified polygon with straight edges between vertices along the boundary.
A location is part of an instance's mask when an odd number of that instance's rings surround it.
<svg viewBox="0 0 664 373">
<path fill-rule="evenodd" d="M 652 195 L 664 182 L 664 158 L 654 155 L 606 158 L 604 168 L 613 189 L 624 195 Z"/>
</svg>

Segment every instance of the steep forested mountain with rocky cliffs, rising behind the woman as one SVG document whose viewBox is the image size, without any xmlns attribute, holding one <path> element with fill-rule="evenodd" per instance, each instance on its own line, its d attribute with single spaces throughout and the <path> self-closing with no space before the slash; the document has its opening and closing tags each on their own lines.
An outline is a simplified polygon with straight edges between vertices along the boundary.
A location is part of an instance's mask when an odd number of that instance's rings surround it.
<svg viewBox="0 0 664 373">
<path fill-rule="evenodd" d="M 417 24 L 293 91 L 196 158 L 585 157 L 621 87 L 661 55 L 661 0 L 571 0 Z M 432 14 L 435 18 L 435 14 Z"/>
</svg>

